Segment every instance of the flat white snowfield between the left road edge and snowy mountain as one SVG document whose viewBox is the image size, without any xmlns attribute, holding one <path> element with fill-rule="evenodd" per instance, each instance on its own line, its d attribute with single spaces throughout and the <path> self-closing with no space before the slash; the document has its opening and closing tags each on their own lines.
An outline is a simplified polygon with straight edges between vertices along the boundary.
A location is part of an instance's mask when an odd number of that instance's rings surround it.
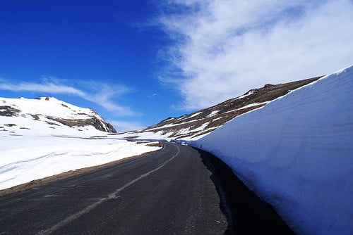
<svg viewBox="0 0 353 235">
<path fill-rule="evenodd" d="M 8 136 L 0 141 L 0 190 L 160 149 L 116 139 Z"/>
</svg>

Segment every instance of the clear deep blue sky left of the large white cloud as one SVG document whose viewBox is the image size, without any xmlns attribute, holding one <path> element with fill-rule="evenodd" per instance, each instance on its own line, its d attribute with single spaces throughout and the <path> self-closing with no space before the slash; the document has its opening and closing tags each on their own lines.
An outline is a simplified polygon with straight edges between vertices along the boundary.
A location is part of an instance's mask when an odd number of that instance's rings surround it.
<svg viewBox="0 0 353 235">
<path fill-rule="evenodd" d="M 171 107 L 179 94 L 154 77 L 157 50 L 164 44 L 162 31 L 140 26 L 153 14 L 148 1 L 1 1 L 1 79 L 63 89 L 2 90 L 1 96 L 55 96 L 92 107 L 107 120 L 142 126 L 181 115 Z M 104 96 L 107 87 L 109 101 L 121 110 L 107 110 L 65 92 L 63 86 L 92 96 Z"/>
</svg>

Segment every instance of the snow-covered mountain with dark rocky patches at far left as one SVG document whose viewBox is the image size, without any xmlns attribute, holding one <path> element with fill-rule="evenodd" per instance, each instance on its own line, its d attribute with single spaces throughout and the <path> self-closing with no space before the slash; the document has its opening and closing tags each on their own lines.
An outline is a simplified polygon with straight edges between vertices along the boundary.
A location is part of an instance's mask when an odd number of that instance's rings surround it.
<svg viewBox="0 0 353 235">
<path fill-rule="evenodd" d="M 0 135 L 100 135 L 116 133 L 109 122 L 90 108 L 54 97 L 0 98 Z"/>
</svg>

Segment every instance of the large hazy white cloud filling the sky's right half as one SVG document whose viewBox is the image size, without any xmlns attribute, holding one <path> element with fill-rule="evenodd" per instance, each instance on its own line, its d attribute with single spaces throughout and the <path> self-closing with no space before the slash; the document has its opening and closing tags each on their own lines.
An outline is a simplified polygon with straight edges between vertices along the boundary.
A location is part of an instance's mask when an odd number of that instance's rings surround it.
<svg viewBox="0 0 353 235">
<path fill-rule="evenodd" d="M 157 24 L 174 40 L 160 52 L 169 63 L 160 80 L 179 89 L 180 108 L 353 63 L 351 0 L 177 0 L 160 9 Z"/>
</svg>

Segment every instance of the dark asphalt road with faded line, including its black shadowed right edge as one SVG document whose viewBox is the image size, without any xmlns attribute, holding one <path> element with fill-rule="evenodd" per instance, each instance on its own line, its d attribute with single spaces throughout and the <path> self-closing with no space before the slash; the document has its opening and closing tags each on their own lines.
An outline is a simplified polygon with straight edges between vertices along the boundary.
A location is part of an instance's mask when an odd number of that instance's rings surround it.
<svg viewBox="0 0 353 235">
<path fill-rule="evenodd" d="M 292 232 L 222 167 L 208 153 L 165 144 L 126 163 L 0 197 L 0 234 Z M 254 220 L 263 209 L 269 212 Z"/>
</svg>

